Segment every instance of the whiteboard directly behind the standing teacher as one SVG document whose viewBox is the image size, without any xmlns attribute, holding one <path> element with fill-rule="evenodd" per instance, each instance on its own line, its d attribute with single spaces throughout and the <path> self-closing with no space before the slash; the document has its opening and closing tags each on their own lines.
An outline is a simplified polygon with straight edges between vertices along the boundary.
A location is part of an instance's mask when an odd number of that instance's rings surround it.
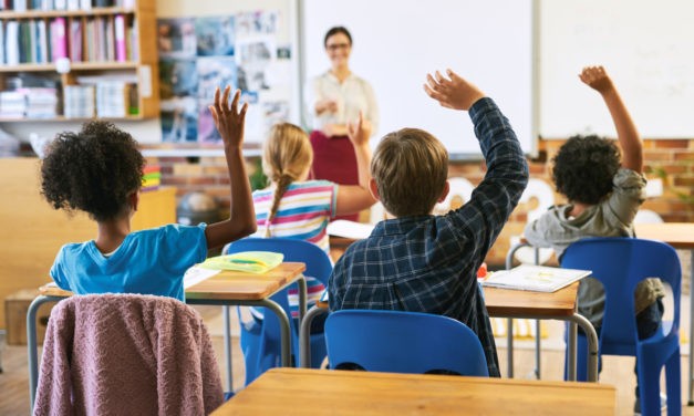
<svg viewBox="0 0 694 416">
<path fill-rule="evenodd" d="M 304 83 L 330 69 L 328 29 L 352 33 L 350 67 L 371 83 L 381 113 L 373 142 L 418 127 L 453 158 L 478 156 L 467 113 L 441 107 L 422 86 L 427 72 L 450 67 L 497 102 L 526 153 L 536 149 L 532 0 L 301 0 L 299 14 Z"/>
</svg>

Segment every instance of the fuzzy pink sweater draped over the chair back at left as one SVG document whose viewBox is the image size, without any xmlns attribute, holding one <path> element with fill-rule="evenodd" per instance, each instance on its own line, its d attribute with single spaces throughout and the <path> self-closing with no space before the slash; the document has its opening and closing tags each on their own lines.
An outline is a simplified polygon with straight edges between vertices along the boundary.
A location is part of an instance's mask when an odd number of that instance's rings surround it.
<svg viewBox="0 0 694 416">
<path fill-rule="evenodd" d="M 53 308 L 34 415 L 203 415 L 221 402 L 209 334 L 185 303 L 93 294 Z"/>
</svg>

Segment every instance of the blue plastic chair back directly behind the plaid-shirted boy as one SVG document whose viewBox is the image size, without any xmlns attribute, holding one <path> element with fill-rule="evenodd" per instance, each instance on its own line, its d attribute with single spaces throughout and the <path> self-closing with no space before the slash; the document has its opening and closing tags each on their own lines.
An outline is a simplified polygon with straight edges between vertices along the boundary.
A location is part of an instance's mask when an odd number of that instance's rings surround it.
<svg viewBox="0 0 694 416">
<path fill-rule="evenodd" d="M 341 310 L 325 321 L 325 343 L 334 370 L 489 376 L 477 334 L 443 315 Z"/>
</svg>

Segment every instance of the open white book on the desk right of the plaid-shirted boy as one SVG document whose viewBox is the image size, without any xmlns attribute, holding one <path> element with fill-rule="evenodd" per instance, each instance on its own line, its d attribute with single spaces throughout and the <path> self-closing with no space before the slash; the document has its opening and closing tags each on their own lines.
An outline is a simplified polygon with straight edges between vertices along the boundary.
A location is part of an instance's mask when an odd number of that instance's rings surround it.
<svg viewBox="0 0 694 416">
<path fill-rule="evenodd" d="M 481 281 L 481 285 L 535 292 L 556 292 L 577 280 L 590 275 L 590 270 L 521 264 L 510 270 L 491 273 L 491 275 Z"/>
</svg>

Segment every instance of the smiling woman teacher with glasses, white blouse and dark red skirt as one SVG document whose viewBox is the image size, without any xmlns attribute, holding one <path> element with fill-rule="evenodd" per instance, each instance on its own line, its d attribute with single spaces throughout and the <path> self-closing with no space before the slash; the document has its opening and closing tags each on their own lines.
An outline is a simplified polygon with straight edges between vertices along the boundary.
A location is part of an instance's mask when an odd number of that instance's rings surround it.
<svg viewBox="0 0 694 416">
<path fill-rule="evenodd" d="M 314 77 L 307 92 L 309 113 L 313 119 L 311 178 L 358 185 L 356 156 L 348 138 L 348 123 L 354 123 L 361 111 L 374 134 L 379 125 L 379 107 L 371 85 L 350 70 L 350 32 L 343 27 L 330 29 L 323 46 L 331 67 Z M 336 217 L 340 218 L 356 221 L 359 214 Z"/>
</svg>

